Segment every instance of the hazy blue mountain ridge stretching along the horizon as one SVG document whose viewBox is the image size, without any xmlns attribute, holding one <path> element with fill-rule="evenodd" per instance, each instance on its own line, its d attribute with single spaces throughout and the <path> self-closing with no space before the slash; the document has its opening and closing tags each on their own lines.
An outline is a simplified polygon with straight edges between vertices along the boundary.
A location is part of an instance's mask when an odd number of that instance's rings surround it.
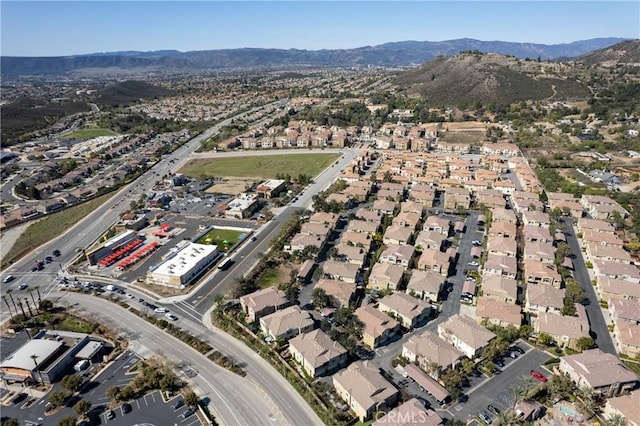
<svg viewBox="0 0 640 426">
<path fill-rule="evenodd" d="M 438 56 L 468 50 L 513 55 L 518 58 L 555 59 L 584 55 L 625 41 L 625 38 L 594 38 L 565 44 L 535 44 L 481 41 L 469 38 L 447 41 L 401 41 L 354 49 L 263 49 L 242 48 L 179 52 L 106 52 L 57 57 L 0 58 L 3 79 L 21 75 L 69 75 L 92 71 L 205 71 L 249 67 L 365 67 L 413 66 Z"/>
</svg>

